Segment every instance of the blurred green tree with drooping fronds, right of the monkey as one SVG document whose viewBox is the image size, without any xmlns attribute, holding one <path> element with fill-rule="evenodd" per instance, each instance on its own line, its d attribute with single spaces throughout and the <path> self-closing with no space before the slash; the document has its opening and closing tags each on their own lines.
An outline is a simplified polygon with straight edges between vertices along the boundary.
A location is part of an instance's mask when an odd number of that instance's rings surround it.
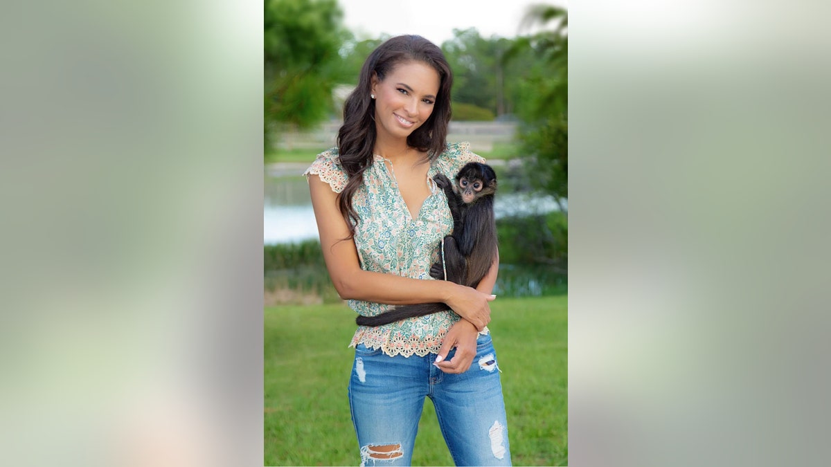
<svg viewBox="0 0 831 467">
<path fill-rule="evenodd" d="M 520 83 L 520 148 L 533 186 L 561 202 L 568 199 L 568 12 L 534 5 L 523 27 L 534 25 L 543 31 L 518 37 L 506 59 L 527 62 L 529 54 L 535 57 L 529 77 Z"/>
</svg>

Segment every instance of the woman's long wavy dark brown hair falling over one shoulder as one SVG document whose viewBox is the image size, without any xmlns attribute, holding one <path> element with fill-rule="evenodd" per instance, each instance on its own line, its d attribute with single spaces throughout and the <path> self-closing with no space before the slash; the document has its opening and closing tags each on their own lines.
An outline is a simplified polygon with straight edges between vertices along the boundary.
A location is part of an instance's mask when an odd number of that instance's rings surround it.
<svg viewBox="0 0 831 467">
<path fill-rule="evenodd" d="M 337 132 L 337 150 L 343 170 L 349 179 L 338 196 L 338 207 L 349 225 L 349 238 L 355 235 L 359 216 L 352 208 L 352 196 L 363 183 L 363 173 L 372 164 L 375 148 L 375 100 L 371 99 L 372 76 L 383 81 L 401 63 L 420 61 L 432 66 L 439 74 L 439 93 L 435 96 L 433 113 L 409 136 L 407 144 L 427 153 L 434 160 L 445 150 L 447 125 L 450 122 L 450 87 L 453 72 L 445 55 L 433 42 L 420 36 L 392 37 L 378 46 L 361 67 L 358 86 L 343 105 L 343 125 Z"/>
</svg>

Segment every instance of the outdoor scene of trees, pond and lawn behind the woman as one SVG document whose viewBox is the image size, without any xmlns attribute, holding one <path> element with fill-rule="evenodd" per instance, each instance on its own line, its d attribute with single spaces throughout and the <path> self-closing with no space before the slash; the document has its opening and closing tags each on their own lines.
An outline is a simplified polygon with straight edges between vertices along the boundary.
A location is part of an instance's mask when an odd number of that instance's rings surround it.
<svg viewBox="0 0 831 467">
<path fill-rule="evenodd" d="M 501 352 L 514 463 L 565 465 L 566 5 L 268 0 L 264 13 L 266 465 L 356 461 L 342 391 L 355 315 L 328 277 L 302 172 L 336 145 L 342 104 L 363 61 L 399 34 L 441 47 L 454 71 L 448 141 L 470 142 L 499 177 L 499 299 L 490 327 Z M 287 362 L 290 374 L 283 372 Z M 452 465 L 427 407 L 414 465 Z M 323 436 L 302 435 L 308 430 L 325 433 L 327 449 L 320 449 Z"/>
</svg>

